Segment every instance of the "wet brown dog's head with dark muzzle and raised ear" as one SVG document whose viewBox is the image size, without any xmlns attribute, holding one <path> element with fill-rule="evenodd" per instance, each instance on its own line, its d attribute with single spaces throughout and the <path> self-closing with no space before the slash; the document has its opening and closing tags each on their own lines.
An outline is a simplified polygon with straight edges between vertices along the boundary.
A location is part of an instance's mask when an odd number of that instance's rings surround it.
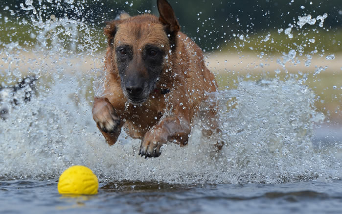
<svg viewBox="0 0 342 214">
<path fill-rule="evenodd" d="M 124 95 L 133 104 L 146 101 L 155 89 L 180 30 L 171 5 L 166 0 L 157 0 L 157 5 L 159 18 L 122 14 L 104 28 L 111 63 L 119 72 Z"/>
</svg>

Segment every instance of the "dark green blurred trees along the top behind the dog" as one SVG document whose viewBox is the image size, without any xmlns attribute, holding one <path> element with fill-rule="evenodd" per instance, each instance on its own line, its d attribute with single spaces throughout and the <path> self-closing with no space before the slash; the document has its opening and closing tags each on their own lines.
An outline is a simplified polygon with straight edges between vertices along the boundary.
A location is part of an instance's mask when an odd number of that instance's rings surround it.
<svg viewBox="0 0 342 214">
<path fill-rule="evenodd" d="M 39 5 L 41 2 L 41 5 Z M 151 12 L 158 15 L 155 0 L 36 0 L 33 6 L 40 8 L 45 20 L 50 15 L 57 18 L 68 16 L 84 20 L 94 27 L 103 27 L 103 21 L 114 19 L 124 10 L 131 15 Z M 341 29 L 341 0 L 169 0 L 182 25 L 182 31 L 204 49 L 216 49 L 231 40 L 232 33 L 254 34 L 287 28 L 298 16 L 311 14 L 313 18 L 328 14 L 325 29 Z M 312 2 L 312 3 L 310 3 Z M 24 0 L 4 0 L 0 5 L 2 17 L 29 20 L 30 11 L 20 6 Z M 43 5 L 44 8 L 43 8 Z M 305 8 L 302 9 L 301 6 Z M 5 8 L 6 7 L 6 8 Z M 11 12 L 11 10 L 13 12 Z M 39 12 L 38 11 L 38 12 Z M 10 15 L 10 14 L 14 15 Z M 1 18 L 0 18 L 1 20 Z"/>
</svg>

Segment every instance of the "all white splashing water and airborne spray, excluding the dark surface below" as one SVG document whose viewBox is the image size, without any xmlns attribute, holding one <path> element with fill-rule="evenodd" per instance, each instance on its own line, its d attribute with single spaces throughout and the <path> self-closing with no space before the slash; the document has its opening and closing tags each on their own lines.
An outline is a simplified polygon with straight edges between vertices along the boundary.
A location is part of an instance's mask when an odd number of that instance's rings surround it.
<svg viewBox="0 0 342 214">
<path fill-rule="evenodd" d="M 67 2 L 72 4 L 73 0 Z M 294 78 L 240 81 L 236 89 L 211 94 L 220 103 L 222 133 L 204 138 L 200 130 L 205 125 L 199 119 L 186 147 L 167 144 L 159 158 L 138 156 L 140 141 L 125 133 L 118 143 L 108 146 L 91 116 L 92 96 L 103 89 L 98 78 L 103 59 L 96 55 L 100 42 L 91 35 L 95 29 L 82 21 L 54 16 L 44 22 L 41 10 L 31 0 L 21 8 L 33 13 L 32 33 L 37 42 L 31 52 L 16 41 L 0 44 L 0 54 L 7 56 L 2 59 L 1 87 L 7 94 L 1 91 L 0 105 L 6 106 L 7 117 L 0 122 L 0 177 L 56 179 L 71 165 L 85 165 L 102 181 L 279 183 L 341 179 L 336 150 L 312 143 L 314 124 L 324 119 L 316 111 L 315 95 Z M 297 24 L 311 24 L 311 16 L 307 18 L 302 17 Z M 318 18 L 321 23 L 323 18 Z M 291 29 L 285 29 L 289 37 Z M 295 57 L 296 50 L 291 49 L 279 64 L 285 67 Z M 89 65 L 88 71 L 79 67 L 80 61 Z M 13 105 L 15 97 L 8 90 L 23 79 L 23 70 L 39 79 L 35 89 L 24 87 L 15 95 L 24 97 L 30 90 L 37 93 L 28 102 L 17 98 Z M 213 145 L 218 140 L 225 146 L 216 152 Z"/>
</svg>

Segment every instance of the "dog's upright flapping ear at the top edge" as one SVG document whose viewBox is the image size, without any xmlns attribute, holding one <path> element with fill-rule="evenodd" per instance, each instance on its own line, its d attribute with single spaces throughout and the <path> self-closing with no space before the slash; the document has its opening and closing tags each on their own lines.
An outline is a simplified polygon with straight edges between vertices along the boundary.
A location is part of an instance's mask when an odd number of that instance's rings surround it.
<svg viewBox="0 0 342 214">
<path fill-rule="evenodd" d="M 178 31 L 181 30 L 181 26 L 178 23 L 175 12 L 167 0 L 157 0 L 157 6 L 159 11 L 159 21 L 166 26 L 166 30 L 177 35 Z"/>
</svg>

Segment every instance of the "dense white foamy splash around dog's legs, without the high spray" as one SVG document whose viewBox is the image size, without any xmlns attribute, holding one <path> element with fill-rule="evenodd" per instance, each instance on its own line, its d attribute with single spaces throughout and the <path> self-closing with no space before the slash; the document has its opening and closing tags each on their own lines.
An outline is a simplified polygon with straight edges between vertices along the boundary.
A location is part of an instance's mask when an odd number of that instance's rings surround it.
<svg viewBox="0 0 342 214">
<path fill-rule="evenodd" d="M 85 165 L 103 180 L 277 183 L 341 178 L 334 150 L 312 145 L 314 122 L 323 116 L 315 111 L 312 91 L 295 80 L 241 82 L 236 90 L 220 91 L 215 98 L 221 103 L 222 135 L 205 139 L 195 127 L 186 147 L 170 143 L 159 158 L 150 159 L 138 156 L 140 142 L 125 134 L 108 146 L 92 120 L 80 79 L 63 80 L 1 121 L 1 177 L 50 179 L 68 166 Z M 235 107 L 227 111 L 232 97 Z M 217 139 L 227 143 L 219 152 L 213 146 Z"/>
</svg>

